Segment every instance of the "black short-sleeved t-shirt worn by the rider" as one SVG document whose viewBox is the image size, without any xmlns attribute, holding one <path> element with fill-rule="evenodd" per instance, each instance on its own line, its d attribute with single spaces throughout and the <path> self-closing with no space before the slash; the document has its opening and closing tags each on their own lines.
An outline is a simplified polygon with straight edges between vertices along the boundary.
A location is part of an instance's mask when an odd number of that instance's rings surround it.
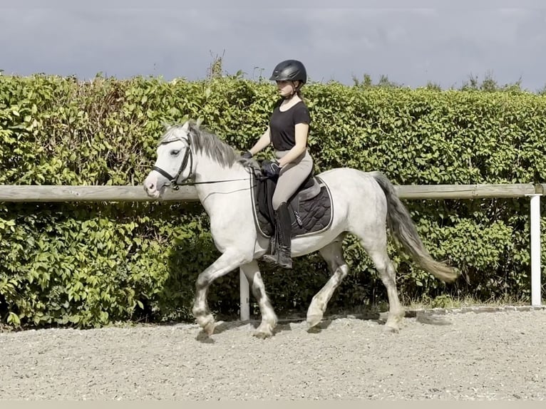
<svg viewBox="0 0 546 409">
<path fill-rule="evenodd" d="M 296 145 L 296 124 L 311 123 L 311 115 L 303 101 L 299 101 L 289 110 L 279 109 L 282 100 L 275 104 L 269 119 L 271 142 L 275 150 L 290 150 Z"/>
</svg>

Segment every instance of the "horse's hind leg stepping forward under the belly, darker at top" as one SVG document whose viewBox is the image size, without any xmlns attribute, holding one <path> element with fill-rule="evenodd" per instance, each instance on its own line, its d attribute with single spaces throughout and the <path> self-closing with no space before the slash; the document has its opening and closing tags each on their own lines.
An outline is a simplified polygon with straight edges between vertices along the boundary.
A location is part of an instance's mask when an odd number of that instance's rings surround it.
<svg viewBox="0 0 546 409">
<path fill-rule="evenodd" d="M 337 237 L 334 242 L 331 242 L 326 247 L 320 249 L 320 254 L 326 263 L 328 263 L 332 275 L 324 287 L 315 294 L 311 304 L 309 304 L 309 309 L 307 309 L 307 323 L 310 327 L 316 326 L 316 324 L 321 321 L 324 316 L 324 311 L 326 311 L 328 301 L 330 301 L 331 296 L 334 294 L 337 287 L 339 287 L 341 281 L 349 274 L 349 266 L 343 258 L 343 239 L 344 235 L 341 235 Z"/>
</svg>

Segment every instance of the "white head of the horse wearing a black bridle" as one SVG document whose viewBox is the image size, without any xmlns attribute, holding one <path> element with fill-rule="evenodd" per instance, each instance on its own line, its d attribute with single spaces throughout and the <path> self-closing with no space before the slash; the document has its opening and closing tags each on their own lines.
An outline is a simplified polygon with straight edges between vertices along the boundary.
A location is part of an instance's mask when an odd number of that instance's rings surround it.
<svg viewBox="0 0 546 409">
<path fill-rule="evenodd" d="M 165 130 L 159 142 L 158 157 L 144 180 L 148 196 L 158 198 L 166 187 L 176 186 L 192 177 L 195 163 L 190 148 L 191 132 L 189 121 Z"/>
</svg>

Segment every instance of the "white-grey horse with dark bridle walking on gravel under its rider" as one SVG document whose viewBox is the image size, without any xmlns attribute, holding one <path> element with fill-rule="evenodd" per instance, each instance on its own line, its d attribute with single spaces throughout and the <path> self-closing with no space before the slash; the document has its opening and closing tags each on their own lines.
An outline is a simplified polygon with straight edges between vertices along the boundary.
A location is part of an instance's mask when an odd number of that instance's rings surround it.
<svg viewBox="0 0 546 409">
<path fill-rule="evenodd" d="M 215 330 L 215 318 L 207 304 L 207 292 L 215 279 L 239 268 L 251 286 L 262 320 L 254 336 L 273 336 L 277 315 L 266 294 L 258 260 L 267 252 L 269 237 L 259 234 L 252 209 L 249 170 L 259 165 L 243 158 L 217 135 L 188 120 L 183 125 L 165 125 L 157 147 L 157 158 L 145 177 L 148 197 L 160 199 L 166 189 L 195 185 L 197 196 L 210 218 L 210 232 L 221 255 L 202 271 L 195 282 L 192 314 L 208 336 Z M 374 262 L 388 296 L 388 318 L 384 329 L 398 332 L 405 310 L 398 299 L 396 271 L 387 254 L 390 229 L 396 242 L 418 266 L 443 282 L 454 281 L 455 268 L 434 260 L 418 236 L 411 216 L 396 195 L 388 178 L 379 171 L 364 172 L 337 167 L 316 175 L 329 188 L 331 223 L 316 234 L 292 237 L 292 257 L 318 251 L 331 276 L 313 296 L 307 309 L 309 328 L 319 324 L 326 306 L 349 273 L 342 242 L 354 234 Z"/>
</svg>

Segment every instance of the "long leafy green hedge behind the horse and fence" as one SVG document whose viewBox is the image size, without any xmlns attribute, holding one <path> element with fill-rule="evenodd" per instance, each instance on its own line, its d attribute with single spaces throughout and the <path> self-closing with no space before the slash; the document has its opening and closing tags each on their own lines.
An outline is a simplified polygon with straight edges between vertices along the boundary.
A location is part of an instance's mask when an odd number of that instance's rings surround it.
<svg viewBox="0 0 546 409">
<path fill-rule="evenodd" d="M 232 77 L 0 76 L 0 184 L 140 185 L 164 122 L 200 118 L 244 150 L 267 126 L 275 98 L 270 83 Z M 545 96 L 311 83 L 305 98 L 317 172 L 381 170 L 401 185 L 546 180 Z M 446 294 L 530 298 L 527 199 L 406 205 L 433 257 L 458 266 L 463 276 L 445 286 L 391 243 L 403 301 Z M 543 264 L 545 254 L 543 244 Z M 218 256 L 195 203 L 0 203 L 0 323 L 88 327 L 191 319 L 197 274 Z M 331 309 L 386 301 L 352 237 L 346 258 L 351 274 Z M 329 276 L 316 254 L 294 267 L 263 266 L 280 314 L 304 312 Z M 238 301 L 238 274 L 213 284 L 210 306 L 217 314 L 237 314 Z"/>
</svg>

